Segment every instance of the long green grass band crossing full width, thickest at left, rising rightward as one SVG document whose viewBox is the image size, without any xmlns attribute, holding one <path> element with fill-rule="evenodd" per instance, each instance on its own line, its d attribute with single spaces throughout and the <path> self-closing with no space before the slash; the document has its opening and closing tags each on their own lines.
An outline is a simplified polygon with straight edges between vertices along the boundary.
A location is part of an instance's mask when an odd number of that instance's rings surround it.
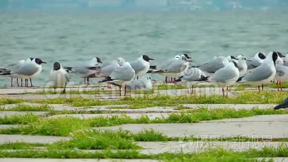
<svg viewBox="0 0 288 162">
<path fill-rule="evenodd" d="M 83 130 L 92 127 L 114 126 L 121 124 L 139 124 L 139 123 L 196 123 L 204 120 L 216 120 L 225 118 L 242 118 L 254 115 L 268 115 L 268 114 L 288 114 L 288 110 L 275 111 L 270 109 L 253 108 L 251 110 L 233 108 L 217 108 L 209 109 L 201 107 L 199 109 L 191 109 L 175 114 L 171 113 L 167 118 L 149 119 L 147 115 L 142 115 L 137 119 L 122 114 L 121 116 L 112 117 L 95 117 L 90 119 L 79 119 L 74 117 L 61 118 L 38 118 L 33 122 L 25 121 L 23 118 L 11 117 L 14 121 L 12 123 L 27 123 L 27 126 L 19 128 L 0 129 L 0 134 L 32 134 L 32 135 L 51 135 L 51 136 L 68 136 L 70 132 Z M 34 118 L 33 118 L 34 119 Z M 23 121 L 24 120 L 24 121 Z M 6 118 L 4 123 L 8 123 Z M 69 124 L 67 124 L 69 123 Z"/>
</svg>

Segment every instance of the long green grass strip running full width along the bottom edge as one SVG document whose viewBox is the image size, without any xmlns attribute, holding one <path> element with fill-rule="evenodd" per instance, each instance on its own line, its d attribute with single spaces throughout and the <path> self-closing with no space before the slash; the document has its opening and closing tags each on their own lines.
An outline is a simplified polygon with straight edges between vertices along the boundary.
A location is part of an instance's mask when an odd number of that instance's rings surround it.
<svg viewBox="0 0 288 162">
<path fill-rule="evenodd" d="M 79 150 L 47 151 L 23 150 L 15 152 L 0 151 L 0 158 L 56 158 L 56 159 L 155 159 L 164 162 L 257 162 L 255 158 L 288 157 L 288 148 L 263 148 L 262 150 L 248 150 L 233 152 L 221 148 L 208 149 L 201 153 L 163 153 L 143 155 L 136 150 L 85 152 Z M 259 161 L 258 161 L 259 162 Z"/>
</svg>

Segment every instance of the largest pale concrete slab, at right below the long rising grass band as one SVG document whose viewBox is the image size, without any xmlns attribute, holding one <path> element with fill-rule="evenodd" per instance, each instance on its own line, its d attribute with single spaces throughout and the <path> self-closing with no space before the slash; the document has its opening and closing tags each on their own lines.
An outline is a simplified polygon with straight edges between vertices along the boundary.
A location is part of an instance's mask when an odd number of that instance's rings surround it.
<svg viewBox="0 0 288 162">
<path fill-rule="evenodd" d="M 284 115 L 287 117 L 288 115 Z M 259 118 L 259 117 L 257 117 Z M 201 123 L 171 123 L 171 124 L 124 124 L 113 127 L 100 127 L 95 129 L 112 129 L 118 130 L 122 128 L 133 133 L 139 133 L 143 129 L 153 129 L 156 132 L 161 132 L 168 137 L 180 137 L 182 135 L 205 136 L 212 138 L 212 136 L 232 137 L 232 136 L 258 136 L 272 137 L 272 138 L 288 138 L 288 129 L 286 128 L 287 121 L 277 121 L 278 115 L 271 115 L 269 121 L 253 121 L 253 118 L 245 119 L 244 122 L 235 121 L 227 122 L 201 122 Z M 233 121 L 235 119 L 231 119 Z M 245 121 L 247 120 L 247 121 Z"/>
</svg>

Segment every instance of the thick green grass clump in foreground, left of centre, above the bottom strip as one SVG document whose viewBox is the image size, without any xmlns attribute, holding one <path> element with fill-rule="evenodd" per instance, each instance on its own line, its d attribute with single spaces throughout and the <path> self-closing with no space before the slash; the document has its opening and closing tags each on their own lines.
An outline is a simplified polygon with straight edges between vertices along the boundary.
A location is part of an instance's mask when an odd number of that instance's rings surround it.
<svg viewBox="0 0 288 162">
<path fill-rule="evenodd" d="M 154 130 L 143 130 L 133 134 L 130 131 L 87 130 L 75 132 L 70 141 L 54 143 L 49 148 L 80 150 L 128 150 L 142 149 L 134 141 L 168 141 L 168 137 Z"/>
</svg>

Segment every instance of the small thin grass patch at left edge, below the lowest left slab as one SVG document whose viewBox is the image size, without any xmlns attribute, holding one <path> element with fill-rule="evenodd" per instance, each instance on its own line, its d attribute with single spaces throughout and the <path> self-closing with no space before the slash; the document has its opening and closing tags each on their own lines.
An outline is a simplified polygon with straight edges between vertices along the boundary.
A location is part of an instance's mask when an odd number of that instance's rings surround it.
<svg viewBox="0 0 288 162">
<path fill-rule="evenodd" d="M 24 142 L 16 143 L 5 143 L 0 145 L 0 150 L 21 150 L 21 149 L 32 149 L 33 147 L 45 147 L 46 144 L 30 144 Z"/>
</svg>

